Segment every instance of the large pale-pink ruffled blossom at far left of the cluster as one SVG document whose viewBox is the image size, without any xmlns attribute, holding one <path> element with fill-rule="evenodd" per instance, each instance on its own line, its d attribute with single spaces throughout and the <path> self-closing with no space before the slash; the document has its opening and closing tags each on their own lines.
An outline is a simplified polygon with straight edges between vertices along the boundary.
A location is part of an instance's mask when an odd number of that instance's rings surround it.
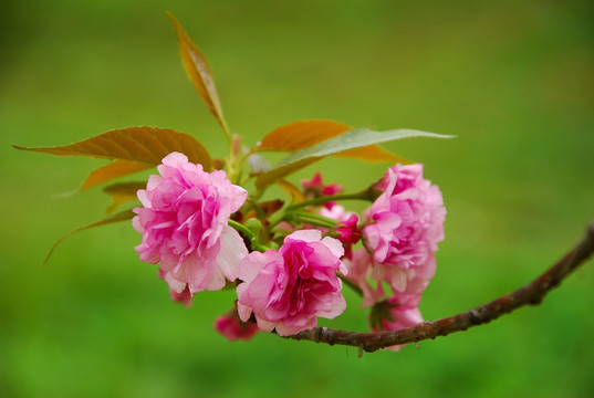
<svg viewBox="0 0 594 398">
<path fill-rule="evenodd" d="M 226 279 L 237 279 L 239 261 L 248 254 L 227 224 L 247 191 L 225 171 L 206 172 L 178 153 L 167 155 L 157 169 L 160 176 L 150 176 L 146 190 L 138 190 L 144 207 L 134 209 L 133 226 L 143 234 L 135 248 L 140 260 L 160 262 L 163 277 L 177 293 L 223 287 Z"/>
</svg>

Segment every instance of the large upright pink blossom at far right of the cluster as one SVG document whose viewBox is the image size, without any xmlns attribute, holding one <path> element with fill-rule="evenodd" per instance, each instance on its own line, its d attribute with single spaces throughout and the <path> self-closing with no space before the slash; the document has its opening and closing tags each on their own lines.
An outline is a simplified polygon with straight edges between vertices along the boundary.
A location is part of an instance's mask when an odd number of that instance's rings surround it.
<svg viewBox="0 0 594 398">
<path fill-rule="evenodd" d="M 434 276 L 446 209 L 439 188 L 423 178 L 423 165 L 396 165 L 376 188 L 383 193 L 365 211 L 363 228 L 375 260 L 372 277 L 402 292 L 409 280 Z"/>
</svg>

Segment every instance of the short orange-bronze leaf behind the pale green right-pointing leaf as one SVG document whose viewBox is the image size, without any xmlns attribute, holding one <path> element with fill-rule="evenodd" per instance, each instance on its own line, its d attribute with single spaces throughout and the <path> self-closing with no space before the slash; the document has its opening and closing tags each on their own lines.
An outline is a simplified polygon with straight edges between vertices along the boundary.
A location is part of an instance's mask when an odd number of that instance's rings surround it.
<svg viewBox="0 0 594 398">
<path fill-rule="evenodd" d="M 259 149 L 295 151 L 351 130 L 333 121 L 299 121 L 277 127 L 258 146 Z"/>
</svg>

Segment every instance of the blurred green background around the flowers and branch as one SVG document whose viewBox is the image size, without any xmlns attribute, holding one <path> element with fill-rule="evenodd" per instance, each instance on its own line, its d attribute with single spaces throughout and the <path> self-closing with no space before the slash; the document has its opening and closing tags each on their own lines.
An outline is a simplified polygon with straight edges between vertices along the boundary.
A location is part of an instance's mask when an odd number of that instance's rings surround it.
<svg viewBox="0 0 594 398">
<path fill-rule="evenodd" d="M 232 292 L 171 303 L 127 223 L 103 217 L 103 163 L 20 153 L 132 125 L 226 153 L 187 81 L 171 11 L 210 61 L 231 128 L 254 144 L 305 118 L 417 128 L 452 140 L 386 145 L 444 192 L 446 241 L 426 318 L 541 273 L 594 219 L 594 19 L 587 1 L 3 1 L 0 6 L 0 396 L 594 396 L 594 264 L 538 307 L 434 342 L 356 349 L 212 329 Z M 348 189 L 387 165 L 324 160 Z M 359 301 L 332 325 L 366 329 Z"/>
</svg>

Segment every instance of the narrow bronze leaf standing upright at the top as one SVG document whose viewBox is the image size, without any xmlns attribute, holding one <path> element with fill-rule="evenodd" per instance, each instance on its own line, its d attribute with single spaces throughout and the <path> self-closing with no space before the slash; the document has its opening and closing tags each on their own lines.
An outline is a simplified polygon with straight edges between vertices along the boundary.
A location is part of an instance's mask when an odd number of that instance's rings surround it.
<svg viewBox="0 0 594 398">
<path fill-rule="evenodd" d="M 181 63 L 184 64 L 188 77 L 194 83 L 200 97 L 207 104 L 210 113 L 217 118 L 225 132 L 228 133 L 229 129 L 222 117 L 222 108 L 219 102 L 219 95 L 217 94 L 217 88 L 215 87 L 215 80 L 212 78 L 205 55 L 196 44 L 194 44 L 181 24 L 170 12 L 167 12 L 167 18 L 169 18 L 177 35 Z"/>
</svg>

